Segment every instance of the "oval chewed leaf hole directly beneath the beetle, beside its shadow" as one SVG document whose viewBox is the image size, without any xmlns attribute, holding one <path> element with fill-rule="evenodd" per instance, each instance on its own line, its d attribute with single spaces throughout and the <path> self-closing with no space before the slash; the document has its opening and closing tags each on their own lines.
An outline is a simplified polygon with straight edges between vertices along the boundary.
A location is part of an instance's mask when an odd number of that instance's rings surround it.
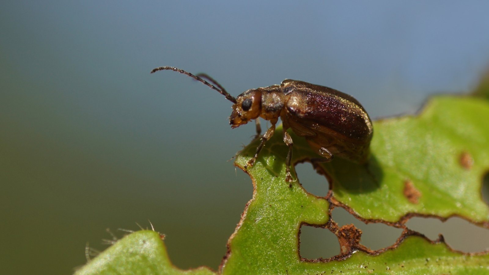
<svg viewBox="0 0 489 275">
<path fill-rule="evenodd" d="M 295 165 L 295 172 L 302 187 L 312 195 L 324 197 L 328 194 L 330 183 L 328 179 L 314 170 L 311 162 L 303 162 Z"/>
</svg>

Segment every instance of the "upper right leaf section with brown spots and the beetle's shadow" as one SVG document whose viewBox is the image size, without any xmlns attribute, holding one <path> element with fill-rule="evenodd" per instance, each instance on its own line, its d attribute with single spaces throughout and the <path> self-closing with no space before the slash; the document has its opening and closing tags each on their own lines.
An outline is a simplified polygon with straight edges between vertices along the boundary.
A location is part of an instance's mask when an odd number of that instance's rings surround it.
<svg viewBox="0 0 489 275">
<path fill-rule="evenodd" d="M 342 161 L 323 165 L 332 175 L 334 197 L 364 219 L 397 222 L 415 213 L 488 223 L 481 196 L 489 168 L 488 119 L 487 101 L 443 96 L 419 116 L 377 121 L 367 169 Z M 363 177 L 352 178 L 351 169 Z"/>
</svg>

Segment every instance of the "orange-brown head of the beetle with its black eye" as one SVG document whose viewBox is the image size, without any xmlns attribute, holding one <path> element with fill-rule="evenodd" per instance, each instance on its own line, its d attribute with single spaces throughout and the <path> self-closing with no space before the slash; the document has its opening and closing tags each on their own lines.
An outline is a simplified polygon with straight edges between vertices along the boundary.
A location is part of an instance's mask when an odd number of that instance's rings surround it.
<svg viewBox="0 0 489 275">
<path fill-rule="evenodd" d="M 236 98 L 233 104 L 233 112 L 229 116 L 229 124 L 232 128 L 248 123 L 249 120 L 260 116 L 262 109 L 262 92 L 259 90 L 248 90 Z"/>
</svg>

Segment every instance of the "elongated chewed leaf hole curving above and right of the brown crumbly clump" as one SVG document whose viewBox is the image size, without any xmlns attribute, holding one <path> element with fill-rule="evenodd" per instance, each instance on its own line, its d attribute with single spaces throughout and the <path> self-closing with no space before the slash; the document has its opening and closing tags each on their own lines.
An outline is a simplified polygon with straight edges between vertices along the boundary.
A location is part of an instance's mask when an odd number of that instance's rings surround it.
<svg viewBox="0 0 489 275">
<path fill-rule="evenodd" d="M 354 224 L 356 228 L 360 229 L 362 231 L 360 244 L 371 250 L 392 246 L 402 233 L 402 229 L 382 223 L 365 224 L 343 208 L 334 208 L 331 215 L 339 227 Z"/>
</svg>

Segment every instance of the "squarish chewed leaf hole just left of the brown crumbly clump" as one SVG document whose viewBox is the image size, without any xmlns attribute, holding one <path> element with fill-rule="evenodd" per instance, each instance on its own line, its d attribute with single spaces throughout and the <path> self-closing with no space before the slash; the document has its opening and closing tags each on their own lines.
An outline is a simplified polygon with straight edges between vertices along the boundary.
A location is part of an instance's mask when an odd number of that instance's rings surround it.
<svg viewBox="0 0 489 275">
<path fill-rule="evenodd" d="M 329 229 L 308 225 L 301 227 L 301 257 L 307 259 L 327 259 L 338 255 L 339 252 L 338 238 Z"/>
</svg>

